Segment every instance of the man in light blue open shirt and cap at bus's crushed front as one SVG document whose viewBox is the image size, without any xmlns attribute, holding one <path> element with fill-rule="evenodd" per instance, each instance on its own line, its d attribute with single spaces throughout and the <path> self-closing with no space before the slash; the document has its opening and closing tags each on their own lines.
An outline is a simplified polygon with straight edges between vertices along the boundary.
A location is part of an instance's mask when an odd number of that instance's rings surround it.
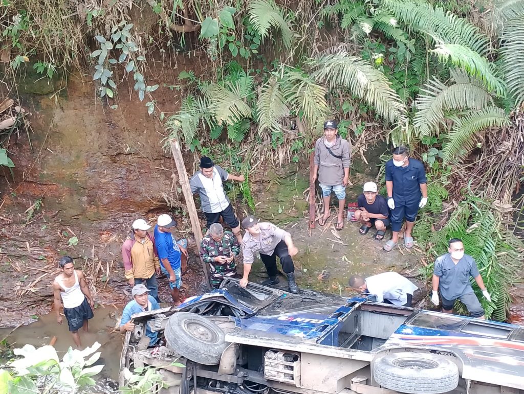
<svg viewBox="0 0 524 394">
<path fill-rule="evenodd" d="M 135 329 L 135 323 L 131 322 L 131 317 L 135 313 L 160 309 L 157 300 L 149 295 L 149 289 L 144 284 L 133 286 L 131 295 L 133 296 L 133 299 L 127 303 L 122 312 L 120 332 L 133 331 Z M 157 343 L 157 333 L 156 331 L 151 331 L 149 323 L 146 324 L 146 335 L 149 336 L 149 346 L 153 346 Z"/>
</svg>

